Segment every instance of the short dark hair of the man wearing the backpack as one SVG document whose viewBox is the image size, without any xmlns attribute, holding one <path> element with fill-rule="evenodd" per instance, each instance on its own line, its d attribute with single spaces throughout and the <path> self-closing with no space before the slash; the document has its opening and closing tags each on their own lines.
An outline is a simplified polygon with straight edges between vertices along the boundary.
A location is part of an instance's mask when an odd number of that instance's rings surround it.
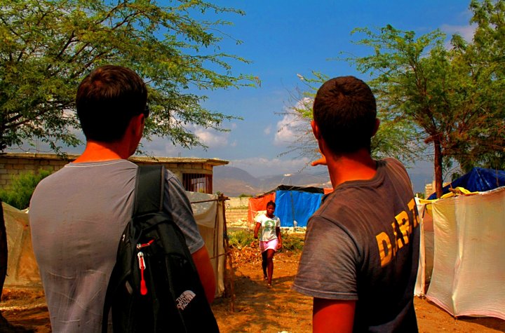
<svg viewBox="0 0 505 333">
<path fill-rule="evenodd" d="M 133 116 L 147 109 L 147 87 L 133 70 L 105 65 L 88 74 L 77 89 L 77 116 L 87 140 L 121 140 Z"/>
</svg>

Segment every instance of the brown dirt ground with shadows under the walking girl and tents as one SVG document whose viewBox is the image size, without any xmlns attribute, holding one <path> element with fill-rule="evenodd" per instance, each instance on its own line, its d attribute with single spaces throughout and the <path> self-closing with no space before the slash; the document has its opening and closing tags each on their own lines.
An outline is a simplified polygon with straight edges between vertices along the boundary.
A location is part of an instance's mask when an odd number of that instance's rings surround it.
<svg viewBox="0 0 505 333">
<path fill-rule="evenodd" d="M 299 254 L 274 258 L 273 288 L 262 280 L 259 256 L 236 256 L 235 300 L 216 299 L 213 310 L 221 332 L 311 332 L 311 299 L 290 290 Z M 234 311 L 231 311 L 234 305 Z M 419 332 L 505 332 L 498 318 L 453 318 L 426 299 L 415 299 Z M 0 332 L 50 332 L 41 290 L 4 288 Z"/>
</svg>

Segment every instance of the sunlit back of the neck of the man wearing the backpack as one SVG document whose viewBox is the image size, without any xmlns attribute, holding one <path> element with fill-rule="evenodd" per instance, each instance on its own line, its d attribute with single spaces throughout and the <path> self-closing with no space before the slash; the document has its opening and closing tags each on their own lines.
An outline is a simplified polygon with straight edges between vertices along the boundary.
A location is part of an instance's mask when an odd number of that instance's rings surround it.
<svg viewBox="0 0 505 333">
<path fill-rule="evenodd" d="M 130 157 L 129 151 L 119 142 L 96 142 L 88 140 L 83 154 L 76 158 L 74 163 L 100 162 L 127 159 Z"/>
</svg>

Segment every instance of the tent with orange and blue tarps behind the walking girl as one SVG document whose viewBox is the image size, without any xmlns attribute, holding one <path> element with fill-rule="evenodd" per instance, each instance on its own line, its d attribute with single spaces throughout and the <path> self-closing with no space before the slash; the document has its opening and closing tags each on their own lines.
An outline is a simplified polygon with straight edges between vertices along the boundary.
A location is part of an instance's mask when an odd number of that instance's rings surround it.
<svg viewBox="0 0 505 333">
<path fill-rule="evenodd" d="M 312 186 L 279 185 L 276 189 L 249 199 L 248 222 L 254 223 L 258 212 L 266 210 L 267 203 L 276 203 L 276 215 L 281 219 L 281 226 L 307 226 L 309 217 L 321 205 L 323 195 L 331 189 Z"/>
</svg>

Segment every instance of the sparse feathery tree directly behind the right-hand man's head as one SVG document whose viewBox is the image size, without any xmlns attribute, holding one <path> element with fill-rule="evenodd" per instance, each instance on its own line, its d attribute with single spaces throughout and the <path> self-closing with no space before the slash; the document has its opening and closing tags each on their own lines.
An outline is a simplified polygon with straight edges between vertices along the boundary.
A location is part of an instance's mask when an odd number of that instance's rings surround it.
<svg viewBox="0 0 505 333">
<path fill-rule="evenodd" d="M 288 147 L 289 150 L 283 154 L 296 153 L 300 157 L 316 159 L 319 156 L 319 149 L 310 125 L 313 119 L 312 104 L 318 88 L 330 77 L 319 72 L 312 72 L 311 78 L 300 74 L 298 76 L 305 87 L 296 90 L 292 95 L 295 105 L 283 112 L 292 119 L 289 125 L 295 134 Z M 372 137 L 372 156 L 374 158 L 391 156 L 405 163 L 415 161 L 422 154 L 422 147 L 419 147 L 415 140 L 417 137 L 415 126 L 403 118 L 391 117 L 391 114 L 384 112 L 379 100 L 377 103 L 377 117 L 381 120 L 381 125 L 377 134 Z"/>
</svg>

